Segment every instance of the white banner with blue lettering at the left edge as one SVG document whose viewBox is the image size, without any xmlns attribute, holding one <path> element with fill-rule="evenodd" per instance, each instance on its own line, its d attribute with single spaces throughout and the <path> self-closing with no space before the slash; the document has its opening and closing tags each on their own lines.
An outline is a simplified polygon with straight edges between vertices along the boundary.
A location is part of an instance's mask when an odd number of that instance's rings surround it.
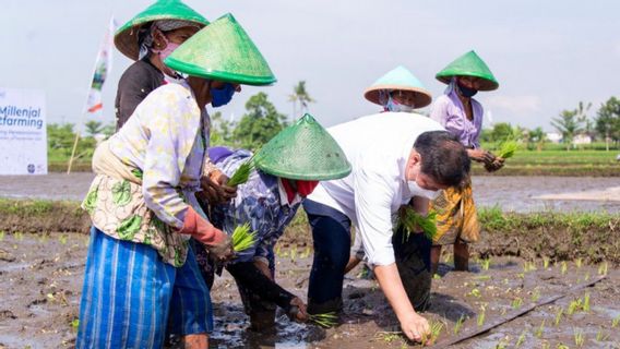
<svg viewBox="0 0 620 349">
<path fill-rule="evenodd" d="M 45 93 L 0 87 L 0 174 L 47 173 Z"/>
</svg>

